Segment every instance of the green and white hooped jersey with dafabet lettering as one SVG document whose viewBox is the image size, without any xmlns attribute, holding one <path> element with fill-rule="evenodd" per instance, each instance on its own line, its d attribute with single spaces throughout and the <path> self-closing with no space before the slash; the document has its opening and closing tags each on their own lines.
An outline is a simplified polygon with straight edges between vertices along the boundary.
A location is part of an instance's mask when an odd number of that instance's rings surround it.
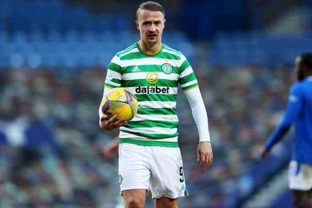
<svg viewBox="0 0 312 208">
<path fill-rule="evenodd" d="M 120 127 L 119 143 L 178 147 L 178 83 L 183 90 L 198 86 L 186 57 L 165 44 L 158 53 L 147 54 L 137 42 L 114 56 L 105 87 L 125 87 L 138 101 L 137 115 Z"/>
</svg>

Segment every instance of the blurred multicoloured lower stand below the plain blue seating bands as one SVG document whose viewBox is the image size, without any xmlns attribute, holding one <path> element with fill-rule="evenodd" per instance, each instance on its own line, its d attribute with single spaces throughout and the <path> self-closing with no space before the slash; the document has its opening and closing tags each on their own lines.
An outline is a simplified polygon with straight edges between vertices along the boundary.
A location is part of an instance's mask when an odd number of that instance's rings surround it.
<svg viewBox="0 0 312 208">
<path fill-rule="evenodd" d="M 24 164 L 20 160 L 25 157 L 23 150 L 28 148 L 1 146 L 1 172 L 5 183 L 0 186 L 0 195 L 6 197 L 2 203 L 16 205 L 15 192 L 20 191 L 25 197 L 20 199 L 19 205 L 38 200 L 47 206 L 66 203 L 83 206 L 82 202 L 76 202 L 82 191 L 89 197 L 84 203 L 89 206 L 107 203 L 109 208 L 117 194 L 117 185 L 110 182 L 116 178 L 117 158 L 109 161 L 100 151 L 113 136 L 98 128 L 98 102 L 105 70 L 78 69 L 64 75 L 43 69 L 1 72 L 0 114 L 2 119 L 11 120 L 13 124 L 20 116 L 39 121 L 53 130 L 53 138 L 60 149 L 55 153 L 49 146 L 32 147 L 33 151 L 27 151 L 31 154 L 27 158 L 31 160 Z M 285 107 L 291 71 L 280 67 L 273 72 L 260 67 L 214 67 L 207 74 L 197 76 L 208 108 L 215 161 L 209 172 L 200 171 L 194 163 L 197 139 L 189 135 L 197 133 L 185 97 L 178 96 L 180 147 L 191 193 L 187 200 L 181 201 L 185 208 L 234 207 L 289 159 L 289 143 L 260 162 L 257 150 L 276 124 L 276 113 L 278 115 Z M 249 96 L 247 92 L 251 91 L 253 94 Z M 24 139 L 27 138 L 26 135 Z M 5 135 L 0 139 L 2 145 L 12 144 Z M 57 173 L 50 172 L 56 168 Z M 63 184 L 63 180 L 70 183 Z M 29 190 L 34 192 L 34 199 Z M 41 190 L 45 190 L 43 195 L 39 194 Z M 110 194 L 103 198 L 100 194 L 103 191 Z"/>
</svg>

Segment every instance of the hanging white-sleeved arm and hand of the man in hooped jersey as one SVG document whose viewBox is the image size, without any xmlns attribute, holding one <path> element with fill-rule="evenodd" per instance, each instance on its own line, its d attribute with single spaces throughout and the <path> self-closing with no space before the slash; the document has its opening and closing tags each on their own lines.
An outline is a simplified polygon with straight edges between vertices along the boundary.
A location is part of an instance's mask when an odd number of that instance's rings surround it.
<svg viewBox="0 0 312 208">
<path fill-rule="evenodd" d="M 198 87 L 186 90 L 184 93 L 190 103 L 199 133 L 199 144 L 196 151 L 197 161 L 200 160 L 200 167 L 206 170 L 213 162 L 206 108 Z"/>
</svg>

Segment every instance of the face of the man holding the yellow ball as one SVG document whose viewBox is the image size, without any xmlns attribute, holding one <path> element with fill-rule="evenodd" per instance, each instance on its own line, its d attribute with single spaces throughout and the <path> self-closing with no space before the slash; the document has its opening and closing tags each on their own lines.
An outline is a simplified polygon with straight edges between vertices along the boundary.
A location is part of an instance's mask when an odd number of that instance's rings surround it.
<svg viewBox="0 0 312 208">
<path fill-rule="evenodd" d="M 160 11 L 141 10 L 137 15 L 137 29 L 140 31 L 141 40 L 147 44 L 161 42 L 165 21 Z"/>
</svg>

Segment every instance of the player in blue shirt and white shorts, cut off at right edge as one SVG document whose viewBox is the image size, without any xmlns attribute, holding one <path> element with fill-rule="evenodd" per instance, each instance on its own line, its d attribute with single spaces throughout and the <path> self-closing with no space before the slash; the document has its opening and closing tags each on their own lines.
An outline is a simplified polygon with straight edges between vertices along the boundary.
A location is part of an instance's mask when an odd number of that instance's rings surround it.
<svg viewBox="0 0 312 208">
<path fill-rule="evenodd" d="M 289 188 L 295 206 L 312 208 L 312 53 L 297 57 L 295 70 L 298 81 L 291 87 L 284 119 L 266 142 L 261 156 L 268 156 L 273 145 L 294 125 Z"/>
</svg>

